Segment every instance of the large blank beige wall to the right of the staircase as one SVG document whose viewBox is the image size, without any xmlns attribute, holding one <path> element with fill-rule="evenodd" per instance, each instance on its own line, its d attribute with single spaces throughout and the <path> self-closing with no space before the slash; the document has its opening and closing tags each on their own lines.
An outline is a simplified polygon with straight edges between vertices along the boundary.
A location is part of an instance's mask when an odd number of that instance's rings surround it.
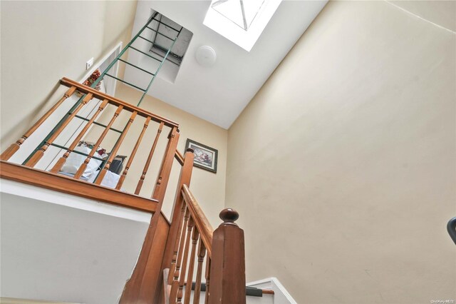
<svg viewBox="0 0 456 304">
<path fill-rule="evenodd" d="M 397 5 L 329 2 L 229 129 L 247 279 L 298 303 L 456 299 L 455 32 Z"/>
</svg>

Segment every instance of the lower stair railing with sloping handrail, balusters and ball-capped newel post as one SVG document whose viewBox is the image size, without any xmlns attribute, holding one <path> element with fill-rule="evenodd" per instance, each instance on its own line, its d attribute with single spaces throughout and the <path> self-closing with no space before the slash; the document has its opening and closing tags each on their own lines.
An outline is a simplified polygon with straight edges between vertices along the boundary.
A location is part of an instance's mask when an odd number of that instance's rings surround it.
<svg viewBox="0 0 456 304">
<path fill-rule="evenodd" d="M 189 172 L 186 166 L 192 166 L 192 152 L 187 149 L 185 158 L 176 153 L 182 173 Z M 190 174 L 183 178 L 181 174 L 165 248 L 163 268 L 169 269 L 164 278 L 165 303 L 190 303 L 195 261 L 193 303 L 199 303 L 204 261 L 204 303 L 245 303 L 244 231 L 234 223 L 239 214 L 224 209 L 219 215 L 223 223 L 213 230 L 186 183 L 190 183 L 190 176 L 191 167 Z"/>
</svg>

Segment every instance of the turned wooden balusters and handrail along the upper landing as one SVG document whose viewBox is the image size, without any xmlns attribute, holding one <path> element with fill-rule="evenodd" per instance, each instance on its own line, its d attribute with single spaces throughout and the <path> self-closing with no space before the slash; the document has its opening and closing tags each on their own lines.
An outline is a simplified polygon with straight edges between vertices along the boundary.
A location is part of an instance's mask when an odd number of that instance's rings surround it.
<svg viewBox="0 0 456 304">
<path fill-rule="evenodd" d="M 136 188 L 135 194 L 139 194 L 140 190 L 142 188 L 142 184 L 144 183 L 144 180 L 146 177 L 147 169 L 149 168 L 150 163 L 152 161 L 152 156 L 153 156 L 155 148 L 157 146 L 157 141 L 158 141 L 158 138 L 162 131 L 162 128 L 164 126 L 170 127 L 171 128 L 170 136 L 171 136 L 172 135 L 171 133 L 179 132 L 178 131 L 179 124 L 175 123 L 174 121 L 170 121 L 167 118 L 163 118 L 162 116 L 157 116 L 154 113 L 145 111 L 142 108 L 138 108 L 137 106 L 132 106 L 125 101 L 122 101 L 113 96 L 109 96 L 106 93 L 97 91 L 95 88 L 85 86 L 85 85 L 78 83 L 76 81 L 73 81 L 69 78 L 65 78 L 65 77 L 61 78 L 60 83 L 62 86 L 68 86 L 69 87 L 68 91 L 66 91 L 66 93 L 63 95 L 63 97 L 60 98 L 60 100 L 56 103 L 56 105 L 54 105 L 51 108 L 50 111 L 48 111 L 42 118 L 40 118 L 38 120 L 38 122 L 35 123 L 35 125 L 33 125 L 32 128 L 30 128 L 26 133 L 24 133 L 24 136 L 19 138 L 19 140 L 16 141 L 16 143 L 12 144 L 8 149 L 6 149 L 6 151 L 4 153 L 1 154 L 1 156 L 0 156 L 1 160 L 4 160 L 4 161 L 9 160 L 9 158 L 11 158 L 11 156 L 13 156 L 14 153 L 16 153 L 19 150 L 22 143 L 24 143 L 24 141 L 29 136 L 31 136 L 32 133 L 34 131 L 36 131 L 38 129 L 38 127 L 41 126 L 41 124 L 44 121 L 46 121 L 47 118 L 49 118 L 51 116 L 51 114 L 53 112 L 56 111 L 58 106 L 61 106 L 63 101 L 65 101 L 69 96 L 72 96 L 76 91 L 78 91 L 78 93 L 83 93 L 84 96 L 81 96 L 81 98 L 79 98 L 79 100 L 73 104 L 73 107 L 69 111 L 66 111 L 65 115 L 60 119 L 60 121 L 56 122 L 56 126 L 52 129 L 52 131 L 50 133 L 48 133 L 47 136 L 45 136 L 43 138 L 43 141 L 41 141 L 41 143 L 38 144 L 38 146 L 34 149 L 34 151 L 32 151 L 31 154 L 28 155 L 28 157 L 26 158 L 26 160 L 24 161 L 23 164 L 25 164 L 26 166 L 28 166 L 30 168 L 35 168 L 35 166 L 38 164 L 38 161 L 41 161 L 43 156 L 45 155 L 46 151 L 48 151 L 48 148 L 50 146 L 53 146 L 53 147 L 56 147 L 59 149 L 66 150 L 66 152 L 63 153 L 63 155 L 58 159 L 58 161 L 55 164 L 53 164 L 53 165 L 51 163 L 48 164 L 48 166 L 52 165 L 52 167 L 51 167 L 52 173 L 59 173 L 62 170 L 63 166 L 65 165 L 68 156 L 73 152 L 77 153 L 77 151 L 75 151 L 76 146 L 78 146 L 78 144 L 81 142 L 81 139 L 83 139 L 83 137 L 87 135 L 86 133 L 88 133 L 90 127 L 95 123 L 95 124 L 98 124 L 99 126 L 103 126 L 104 130 L 103 130 L 103 133 L 101 133 L 101 135 L 99 136 L 96 143 L 93 144 L 93 147 L 90 147 L 91 148 L 90 153 L 88 153 L 88 154 L 84 153 L 84 155 L 87 156 L 85 161 L 82 163 L 81 166 L 79 166 L 76 169 L 76 173 L 73 174 L 74 179 L 80 179 L 81 176 L 83 176 L 83 174 L 86 172 L 86 168 L 88 167 L 88 164 L 90 163 L 92 158 L 95 158 L 96 151 L 100 147 L 100 144 L 105 140 L 105 136 L 107 136 L 108 132 L 112 129 L 111 127 L 113 126 L 113 123 L 118 120 L 117 118 L 120 117 L 121 113 L 130 112 L 130 115 L 131 115 L 130 120 L 128 121 L 128 123 L 126 123 L 125 127 L 123 128 L 123 131 L 115 130 L 120 133 L 120 136 L 115 141 L 115 145 L 113 146 L 112 150 L 110 151 L 110 153 L 109 153 L 110 156 L 108 156 L 108 159 L 103 161 L 103 168 L 101 168 L 100 173 L 98 174 L 94 183 L 98 184 L 98 185 L 103 183 L 105 175 L 108 173 L 111 163 L 113 162 L 114 158 L 117 156 L 117 152 L 118 152 L 120 146 L 123 144 L 124 139 L 127 138 L 128 136 L 135 136 L 133 134 L 128 133 L 128 131 L 130 130 L 130 126 L 132 126 L 133 121 L 135 120 L 135 117 L 142 116 L 145 118 L 144 127 L 142 128 L 142 131 L 140 133 L 138 141 L 135 144 L 135 148 L 133 149 L 133 151 L 131 153 L 131 156 L 128 158 L 128 166 L 123 171 L 123 174 L 121 175 L 117 185 L 115 186 L 116 189 L 118 189 L 118 190 L 121 189 L 121 186 L 123 185 L 123 182 L 128 173 L 128 168 L 130 168 L 130 166 L 132 165 L 133 157 L 135 156 L 135 153 L 139 148 L 139 144 L 142 139 L 142 136 L 145 135 L 145 129 L 147 128 L 147 125 L 149 124 L 150 121 L 155 121 L 160 124 L 160 127 L 157 131 L 157 136 L 156 136 L 155 141 L 150 150 L 150 155 L 148 156 L 147 162 L 145 163 L 145 169 L 142 172 L 140 181 L 138 181 L 138 186 Z M 83 109 L 86 109 L 86 106 L 88 105 L 89 101 L 92 100 L 93 98 L 100 99 L 102 101 L 101 105 L 98 106 L 98 111 L 95 111 L 95 114 L 91 115 L 90 119 L 89 118 L 86 119 L 81 116 L 78 116 L 78 112 L 83 111 Z M 117 111 L 115 111 L 110 122 L 106 126 L 103 124 L 100 124 L 100 123 L 96 123 L 96 119 L 99 117 L 100 113 L 108 105 L 114 106 L 115 108 L 117 108 Z M 53 118 L 55 118 L 55 117 L 53 117 Z M 86 123 L 86 125 L 82 128 L 81 131 L 78 131 L 78 135 L 76 136 L 76 138 L 71 139 L 71 141 L 72 141 L 71 145 L 69 147 L 66 147 L 66 146 L 59 146 L 56 143 L 54 143 L 54 141 L 56 141 L 58 136 L 60 136 L 61 134 L 68 135 L 68 134 L 73 133 L 73 131 L 68 130 L 67 127 L 72 126 L 71 123 L 76 118 L 82 118 L 82 119 L 88 121 L 88 123 Z M 73 127 L 71 127 L 71 128 L 73 128 Z M 68 133 L 68 131 L 69 131 L 69 133 Z M 65 132 L 67 132 L 68 134 Z M 41 136 L 41 133 L 38 134 L 38 136 Z M 174 136 L 174 135 L 172 135 L 172 136 Z M 170 141 L 171 141 L 171 139 L 170 139 Z M 172 140 L 172 141 L 175 141 L 175 140 Z M 175 141 L 175 142 L 177 143 L 177 141 Z M 28 152 L 28 151 L 24 151 L 24 152 Z M 126 157 L 128 157 L 128 156 L 126 156 Z M 168 161 L 166 161 L 167 162 L 166 168 L 172 166 L 172 158 L 175 157 L 175 151 L 170 152 L 170 156 L 167 156 L 167 157 L 168 157 Z M 41 164 L 40 166 L 43 167 L 43 165 L 45 165 L 44 167 L 46 167 L 46 164 Z M 163 165 L 164 165 L 164 163 L 162 163 L 161 166 L 163 166 Z M 157 185 L 155 186 L 155 188 L 165 188 L 160 185 L 162 184 L 162 179 L 163 179 L 163 181 L 165 181 L 165 180 L 167 181 L 167 178 L 168 178 L 167 175 L 168 174 L 165 174 L 160 177 L 160 179 L 157 181 Z M 157 189 L 155 189 L 155 190 L 157 190 Z M 160 191 L 165 191 L 165 190 L 162 189 Z M 160 200 L 158 200 L 158 201 L 160 201 Z"/>
</svg>

